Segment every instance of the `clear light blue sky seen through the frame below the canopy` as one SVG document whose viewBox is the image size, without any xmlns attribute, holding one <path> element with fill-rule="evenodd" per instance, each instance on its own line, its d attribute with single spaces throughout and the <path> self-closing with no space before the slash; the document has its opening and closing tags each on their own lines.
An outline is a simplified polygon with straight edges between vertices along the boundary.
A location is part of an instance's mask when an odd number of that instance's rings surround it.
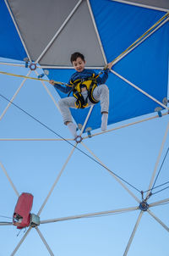
<svg viewBox="0 0 169 256">
<path fill-rule="evenodd" d="M 28 73 L 25 68 L 6 65 L 0 65 L 0 69 L 20 75 Z M 13 97 L 23 81 L 21 78 L 7 75 L 0 75 L 0 80 L 0 93 L 9 99 Z M 57 93 L 53 87 L 48 83 L 46 83 L 46 86 L 57 100 Z M 63 125 L 60 113 L 40 81 L 26 81 L 14 103 L 35 116 L 37 120 L 41 120 L 42 123 L 59 135 L 65 138 L 70 137 L 67 127 Z M 7 102 L 0 97 L 1 114 L 6 106 Z M 153 115 L 155 114 L 144 117 Z M 141 120 L 144 117 L 134 120 Z M 127 123 L 128 120 L 120 124 L 110 125 L 109 128 Z M 110 170 L 137 187 L 139 191 L 145 191 L 149 186 L 155 168 L 167 123 L 168 116 L 166 115 L 139 125 L 132 125 L 101 136 L 95 136 L 84 140 L 84 143 Z M 3 116 L 0 127 L 1 138 L 57 138 L 51 131 L 46 130 L 44 126 L 35 122 L 14 106 L 10 106 Z M 0 144 L 2 164 L 19 193 L 30 192 L 34 195 L 31 212 L 36 214 L 53 182 L 57 179 L 57 175 L 63 168 L 63 164 L 68 159 L 68 154 L 73 146 L 69 145 L 68 142 L 0 141 Z M 85 153 L 90 154 L 83 145 L 78 147 Z M 168 136 L 162 151 L 161 161 L 167 148 Z M 168 157 L 166 157 L 156 185 L 169 181 L 167 166 Z M 17 197 L 2 169 L 0 169 L 0 181 L 0 215 L 12 217 Z M 128 188 L 136 197 L 141 199 L 139 192 L 130 186 Z M 165 198 L 168 198 L 167 189 L 153 195 L 149 203 Z M 112 175 L 101 165 L 96 164 L 76 149 L 41 212 L 41 220 L 133 206 L 138 206 L 138 203 L 114 180 Z M 169 226 L 168 204 L 150 210 Z M 139 213 L 140 211 L 137 210 L 123 214 L 41 224 L 39 229 L 54 255 L 121 256 L 134 230 Z M 10 221 L 10 219 L 1 217 L 1 221 L 5 220 Z M 0 256 L 10 255 L 13 252 L 21 237 L 23 237 L 24 231 L 21 231 L 17 237 L 18 233 L 19 231 L 14 226 L 1 226 Z M 167 241 L 167 231 L 150 214 L 145 212 L 140 220 L 128 255 L 135 256 L 144 253 L 144 255 L 157 256 L 162 254 L 167 256 Z M 45 256 L 49 253 L 38 233 L 35 229 L 32 229 L 16 255 Z"/>
</svg>

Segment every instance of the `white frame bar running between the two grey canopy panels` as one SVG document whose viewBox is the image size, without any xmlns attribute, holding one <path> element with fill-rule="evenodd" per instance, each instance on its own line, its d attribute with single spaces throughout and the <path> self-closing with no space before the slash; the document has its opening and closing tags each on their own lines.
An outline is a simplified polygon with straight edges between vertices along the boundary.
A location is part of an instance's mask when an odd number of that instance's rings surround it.
<svg viewBox="0 0 169 256">
<path fill-rule="evenodd" d="M 60 32 L 63 30 L 64 26 L 68 23 L 68 20 L 71 19 L 71 17 L 74 15 L 75 11 L 77 10 L 77 8 L 79 8 L 80 3 L 82 3 L 83 0 L 79 0 L 79 2 L 75 5 L 74 9 L 71 11 L 70 14 L 68 14 L 67 19 L 64 20 L 63 25 L 61 25 L 61 27 L 58 29 L 57 33 L 55 34 L 55 36 L 52 37 L 51 42 L 49 42 L 47 44 L 47 46 L 45 47 L 45 49 L 43 50 L 43 52 L 41 53 L 41 55 L 36 59 L 35 63 L 38 63 L 40 61 L 40 59 L 43 57 L 43 55 L 46 53 L 46 51 L 48 50 L 49 47 L 51 47 L 52 43 L 55 41 L 55 39 L 57 38 L 57 36 L 60 34 Z"/>
</svg>

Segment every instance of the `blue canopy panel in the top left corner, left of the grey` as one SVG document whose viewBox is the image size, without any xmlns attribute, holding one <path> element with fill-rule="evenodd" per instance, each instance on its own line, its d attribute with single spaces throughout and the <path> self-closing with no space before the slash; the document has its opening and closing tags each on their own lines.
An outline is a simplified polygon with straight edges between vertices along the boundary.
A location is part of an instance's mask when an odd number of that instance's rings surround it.
<svg viewBox="0 0 169 256">
<path fill-rule="evenodd" d="M 1 1 L 0 8 L 0 31 L 0 56 L 23 61 L 27 55 L 14 26 L 14 22 L 8 12 L 8 8 L 3 1 Z"/>
</svg>

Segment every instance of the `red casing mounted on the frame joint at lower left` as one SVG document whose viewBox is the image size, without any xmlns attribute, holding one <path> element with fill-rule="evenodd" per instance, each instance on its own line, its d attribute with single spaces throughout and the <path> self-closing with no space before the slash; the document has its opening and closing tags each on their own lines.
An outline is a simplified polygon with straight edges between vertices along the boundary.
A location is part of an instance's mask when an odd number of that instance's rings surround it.
<svg viewBox="0 0 169 256">
<path fill-rule="evenodd" d="M 18 229 L 30 225 L 30 210 L 32 209 L 33 196 L 30 193 L 22 193 L 14 209 L 13 224 Z"/>
</svg>

